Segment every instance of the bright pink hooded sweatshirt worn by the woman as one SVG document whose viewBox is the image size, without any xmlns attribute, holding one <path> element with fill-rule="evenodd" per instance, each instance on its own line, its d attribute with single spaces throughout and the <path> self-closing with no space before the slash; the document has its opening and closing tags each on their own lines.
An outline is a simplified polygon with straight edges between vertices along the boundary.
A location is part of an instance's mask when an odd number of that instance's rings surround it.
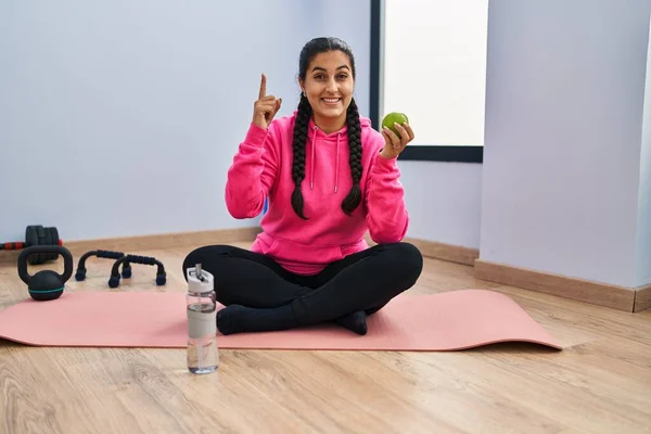
<svg viewBox="0 0 651 434">
<path fill-rule="evenodd" d="M 233 158 L 226 204 L 234 218 L 253 218 L 269 197 L 252 251 L 263 253 L 298 275 L 316 275 L 330 263 L 368 248 L 367 230 L 376 243 L 403 240 L 409 217 L 396 158 L 380 156 L 384 138 L 366 117 L 361 123 L 362 201 L 352 217 L 342 210 L 353 180 L 347 128 L 332 133 L 309 123 L 305 154 L 303 220 L 292 208 L 293 131 L 296 112 L 263 129 L 251 124 Z"/>
</svg>

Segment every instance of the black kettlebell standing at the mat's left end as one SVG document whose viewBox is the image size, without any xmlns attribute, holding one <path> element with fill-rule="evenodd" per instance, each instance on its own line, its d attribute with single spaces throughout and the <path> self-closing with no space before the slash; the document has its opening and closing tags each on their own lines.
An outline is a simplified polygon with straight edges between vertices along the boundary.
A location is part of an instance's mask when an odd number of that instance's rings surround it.
<svg viewBox="0 0 651 434">
<path fill-rule="evenodd" d="M 27 272 L 27 257 L 39 253 L 63 256 L 63 275 L 53 270 L 41 270 L 30 276 Z M 60 245 L 33 245 L 25 248 L 18 255 L 18 276 L 27 284 L 27 290 L 31 298 L 37 302 L 56 299 L 63 294 L 65 282 L 73 276 L 73 255 L 67 248 Z"/>
</svg>

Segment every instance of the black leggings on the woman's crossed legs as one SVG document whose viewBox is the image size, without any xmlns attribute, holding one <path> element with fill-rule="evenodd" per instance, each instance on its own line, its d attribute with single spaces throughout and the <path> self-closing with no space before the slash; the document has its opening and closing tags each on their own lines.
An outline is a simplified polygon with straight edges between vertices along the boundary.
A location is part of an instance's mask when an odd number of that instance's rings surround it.
<svg viewBox="0 0 651 434">
<path fill-rule="evenodd" d="M 296 321 L 308 326 L 356 310 L 378 311 L 416 283 L 423 258 L 409 243 L 379 244 L 332 263 L 318 275 L 301 276 L 263 254 L 209 245 L 186 257 L 183 276 L 196 264 L 214 276 L 217 301 L 222 305 L 291 305 Z"/>
</svg>

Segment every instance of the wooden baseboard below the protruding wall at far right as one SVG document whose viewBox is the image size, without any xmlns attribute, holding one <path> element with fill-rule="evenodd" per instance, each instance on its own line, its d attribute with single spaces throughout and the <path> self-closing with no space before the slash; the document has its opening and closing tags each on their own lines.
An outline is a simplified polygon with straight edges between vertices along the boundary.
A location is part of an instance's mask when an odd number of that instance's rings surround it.
<svg viewBox="0 0 651 434">
<path fill-rule="evenodd" d="M 651 285 L 626 288 L 477 259 L 475 278 L 624 311 L 651 307 Z"/>
</svg>

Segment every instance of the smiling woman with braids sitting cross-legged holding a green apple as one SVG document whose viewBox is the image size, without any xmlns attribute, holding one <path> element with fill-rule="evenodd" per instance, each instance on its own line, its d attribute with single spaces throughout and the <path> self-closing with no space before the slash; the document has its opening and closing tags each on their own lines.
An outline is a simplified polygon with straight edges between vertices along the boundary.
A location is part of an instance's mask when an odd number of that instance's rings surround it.
<svg viewBox="0 0 651 434">
<path fill-rule="evenodd" d="M 334 321 L 367 333 L 367 315 L 411 288 L 420 252 L 401 240 L 409 222 L 396 158 L 413 131 L 382 133 L 360 117 L 355 59 L 336 38 L 316 38 L 298 61 L 298 108 L 273 119 L 281 100 L 261 76 L 253 120 L 228 171 L 235 218 L 261 219 L 251 251 L 209 245 L 183 263 L 215 277 L 222 334 Z M 365 233 L 378 243 L 365 241 Z"/>
</svg>

